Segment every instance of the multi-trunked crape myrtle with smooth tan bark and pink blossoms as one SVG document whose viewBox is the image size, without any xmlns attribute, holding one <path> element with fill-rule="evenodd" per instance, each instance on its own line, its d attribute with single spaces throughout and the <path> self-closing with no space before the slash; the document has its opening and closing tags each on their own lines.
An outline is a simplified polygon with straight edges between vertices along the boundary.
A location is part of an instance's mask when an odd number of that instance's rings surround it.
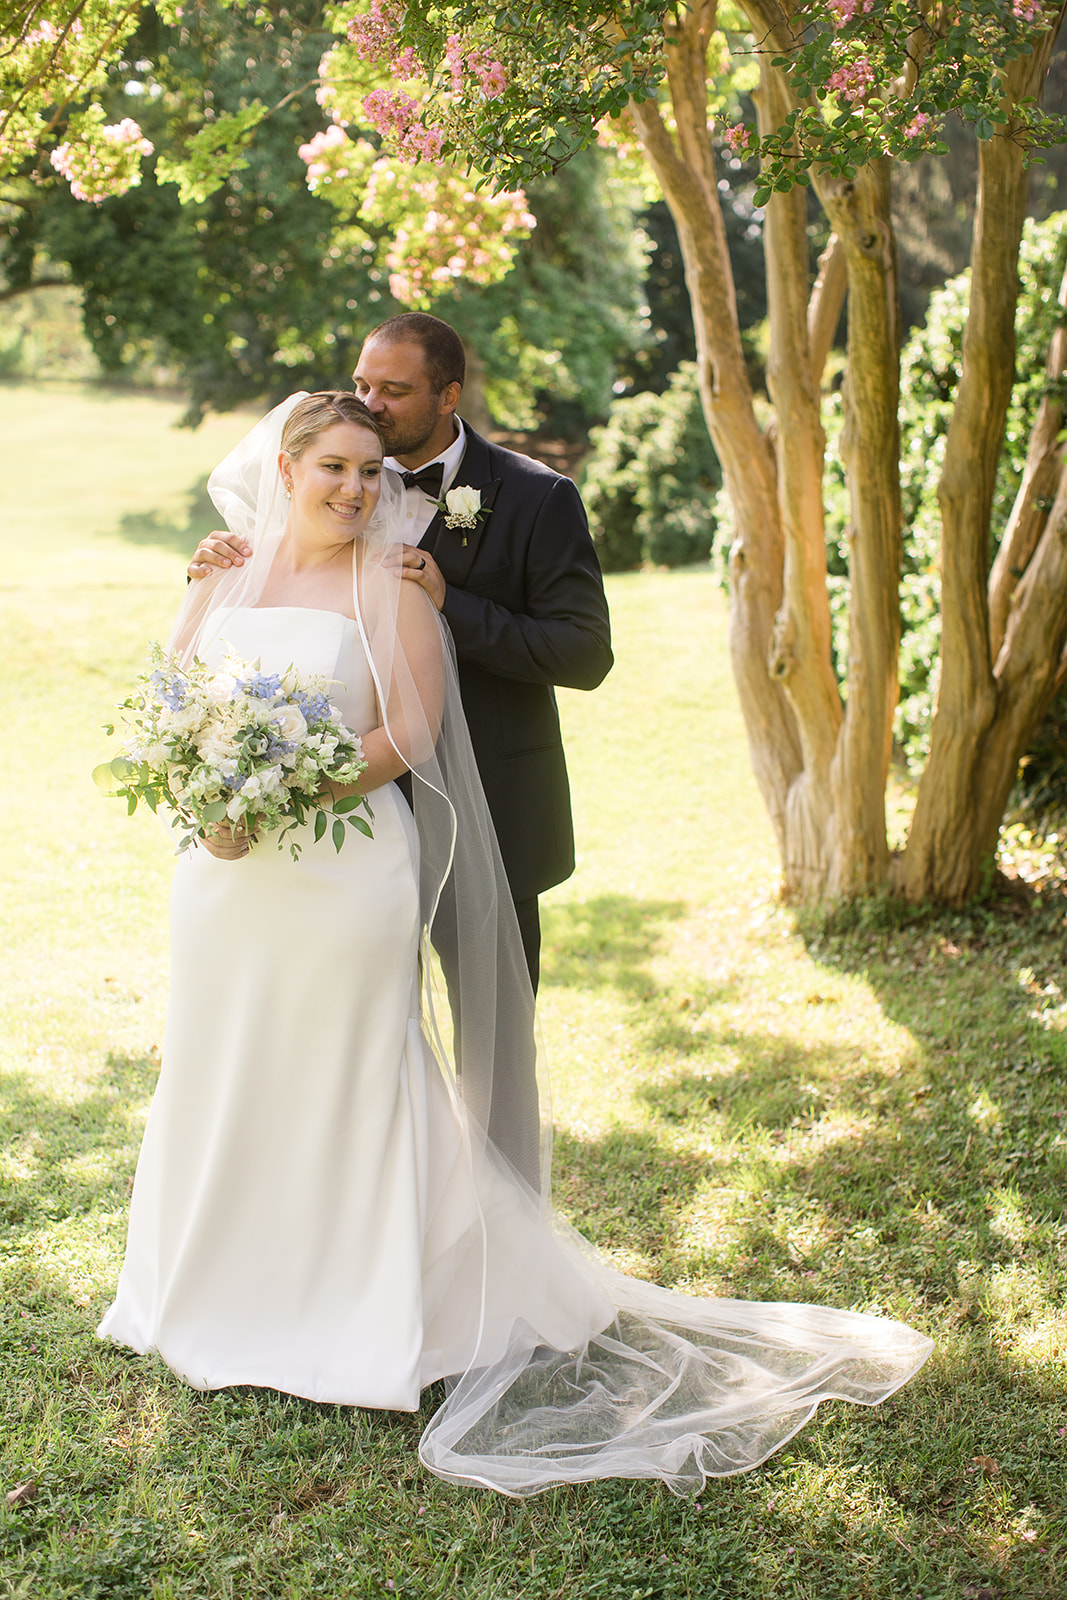
<svg viewBox="0 0 1067 1600">
<path fill-rule="evenodd" d="M 542 0 L 491 11 L 478 0 L 373 0 L 366 10 L 363 0 L 338 11 L 349 48 L 406 80 L 390 102 L 392 136 L 432 136 L 494 182 L 557 168 L 605 120 L 640 139 L 678 229 L 701 397 L 733 506 L 729 637 L 752 760 L 785 886 L 803 898 L 891 888 L 961 904 L 981 893 L 1019 758 L 1067 674 L 1062 333 L 1016 506 L 1005 530 L 990 526 L 1027 162 L 1061 139 L 1040 99 L 1062 10 L 1051 0 Z M 755 125 L 737 120 L 736 98 L 731 110 L 737 74 L 750 75 Z M 885 786 L 902 550 L 891 186 L 896 163 L 944 150 L 952 114 L 974 126 L 979 160 L 937 491 L 939 680 L 910 834 L 891 858 Z M 769 424 L 745 371 L 718 198 L 723 155 L 760 162 Z M 832 229 L 814 274 L 809 189 Z M 821 378 L 845 301 L 849 598 L 838 688 Z"/>
</svg>

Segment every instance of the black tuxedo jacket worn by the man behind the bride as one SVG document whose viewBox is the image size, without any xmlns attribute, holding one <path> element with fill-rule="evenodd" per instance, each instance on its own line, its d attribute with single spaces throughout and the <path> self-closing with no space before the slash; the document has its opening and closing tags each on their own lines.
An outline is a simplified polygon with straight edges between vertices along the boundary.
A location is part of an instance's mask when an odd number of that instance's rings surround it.
<svg viewBox="0 0 1067 1600">
<path fill-rule="evenodd" d="M 464 424 L 466 426 L 466 424 Z M 571 795 L 553 685 L 593 690 L 611 630 L 585 509 L 569 478 L 467 427 L 451 488 L 482 491 L 488 515 L 421 539 L 448 586 L 459 691 L 517 901 L 574 870 Z"/>
</svg>

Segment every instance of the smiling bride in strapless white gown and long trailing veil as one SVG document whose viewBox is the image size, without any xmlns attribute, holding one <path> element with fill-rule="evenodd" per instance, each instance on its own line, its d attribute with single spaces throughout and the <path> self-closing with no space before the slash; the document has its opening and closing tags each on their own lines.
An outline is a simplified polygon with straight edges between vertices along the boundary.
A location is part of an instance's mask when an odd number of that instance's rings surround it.
<svg viewBox="0 0 1067 1600">
<path fill-rule="evenodd" d="M 219 829 L 178 862 L 163 1067 L 101 1334 L 197 1389 L 413 1411 L 445 1378 L 424 1464 L 509 1494 L 600 1477 L 693 1493 L 824 1398 L 893 1394 L 923 1336 L 627 1278 L 553 1213 L 547 1136 L 541 1190 L 501 1154 L 531 1107 L 494 1040 L 528 1032 L 533 995 L 446 629 L 400 579 L 371 413 L 294 395 L 210 490 L 254 554 L 190 586 L 171 648 L 333 678 L 373 838 L 334 853 L 309 824 L 293 861 Z M 442 894 L 461 950 L 448 1027 Z"/>
</svg>

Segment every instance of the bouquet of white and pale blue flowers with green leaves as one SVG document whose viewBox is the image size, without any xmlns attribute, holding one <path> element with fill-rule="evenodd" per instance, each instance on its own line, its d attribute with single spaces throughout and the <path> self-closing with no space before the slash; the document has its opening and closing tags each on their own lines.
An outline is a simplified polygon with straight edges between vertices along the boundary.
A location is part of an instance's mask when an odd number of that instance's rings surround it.
<svg viewBox="0 0 1067 1600">
<path fill-rule="evenodd" d="M 331 800 L 330 784 L 354 784 L 366 770 L 360 736 L 346 728 L 330 699 L 330 680 L 296 672 L 261 672 L 259 662 L 234 653 L 221 667 L 195 659 L 184 669 L 158 645 L 152 669 L 141 674 L 120 706 L 128 733 L 123 752 L 93 773 L 110 795 L 122 795 L 130 816 L 141 800 L 162 803 L 181 832 L 179 850 L 219 822 L 250 842 L 278 835 L 293 859 L 294 830 L 315 819 L 315 840 L 333 822 L 341 850 L 346 824 L 371 837 L 363 795 Z M 107 733 L 114 734 L 114 725 Z"/>
</svg>

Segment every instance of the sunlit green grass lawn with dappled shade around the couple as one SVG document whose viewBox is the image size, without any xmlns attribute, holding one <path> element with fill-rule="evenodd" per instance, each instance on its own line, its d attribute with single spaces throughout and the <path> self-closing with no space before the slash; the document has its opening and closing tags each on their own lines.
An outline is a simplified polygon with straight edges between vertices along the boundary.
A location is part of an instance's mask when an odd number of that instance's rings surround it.
<svg viewBox="0 0 1067 1600">
<path fill-rule="evenodd" d="M 424 1416 L 179 1384 L 96 1341 L 158 1066 L 170 854 L 90 770 L 246 419 L 0 386 L 0 1600 L 1062 1600 L 1067 902 L 798 928 L 705 573 L 611 579 L 563 694 L 545 898 L 561 1210 L 688 1291 L 880 1309 L 937 1352 L 685 1502 L 427 1477 Z M 429 1406 L 429 1402 L 427 1402 Z"/>
</svg>

